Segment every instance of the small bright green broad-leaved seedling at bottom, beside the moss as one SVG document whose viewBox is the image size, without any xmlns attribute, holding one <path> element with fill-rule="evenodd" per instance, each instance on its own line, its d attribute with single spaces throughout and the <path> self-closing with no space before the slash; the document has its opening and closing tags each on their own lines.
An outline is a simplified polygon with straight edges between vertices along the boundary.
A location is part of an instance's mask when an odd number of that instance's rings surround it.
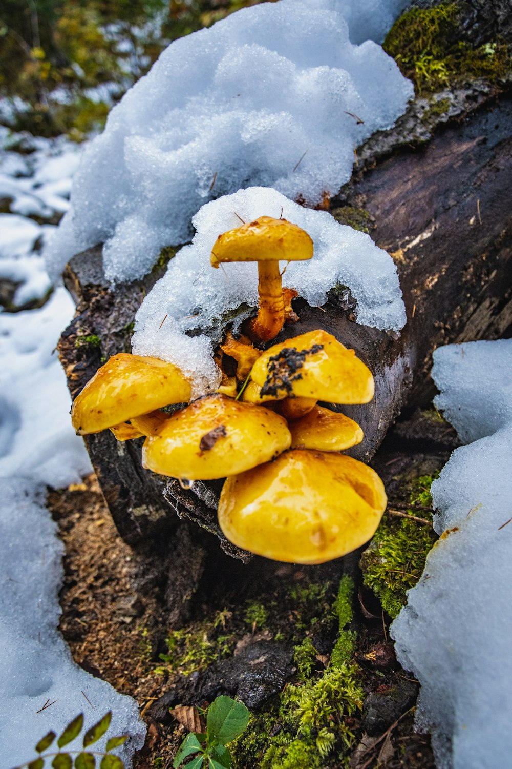
<svg viewBox="0 0 512 769">
<path fill-rule="evenodd" d="M 173 761 L 174 769 L 194 753 L 199 755 L 187 764 L 187 769 L 230 769 L 231 754 L 226 744 L 242 734 L 248 722 L 249 711 L 243 703 L 231 697 L 216 697 L 206 713 L 206 734 L 187 734 Z"/>
</svg>

